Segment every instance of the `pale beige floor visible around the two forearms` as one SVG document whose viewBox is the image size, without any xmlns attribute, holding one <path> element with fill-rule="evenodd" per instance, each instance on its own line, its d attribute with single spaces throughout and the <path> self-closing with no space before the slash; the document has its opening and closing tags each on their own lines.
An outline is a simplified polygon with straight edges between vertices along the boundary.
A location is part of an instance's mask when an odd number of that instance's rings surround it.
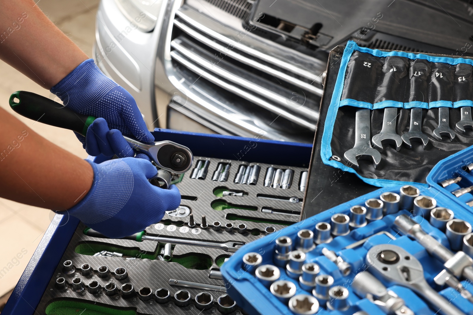
<svg viewBox="0 0 473 315">
<path fill-rule="evenodd" d="M 37 2 L 46 15 L 91 57 L 95 37 L 95 14 L 99 1 L 40 0 Z M 0 61 L 0 74 L 0 106 L 9 112 L 13 112 L 9 109 L 9 96 L 18 90 L 31 91 L 52 98 L 49 91 L 36 85 L 2 61 Z M 82 158 L 87 156 L 72 131 L 34 123 L 15 115 L 46 139 Z M 52 218 L 53 213 L 47 209 L 0 198 L 0 271 L 2 271 L 0 272 L 0 296 L 16 285 Z M 19 231 L 21 233 L 18 233 Z"/>
</svg>

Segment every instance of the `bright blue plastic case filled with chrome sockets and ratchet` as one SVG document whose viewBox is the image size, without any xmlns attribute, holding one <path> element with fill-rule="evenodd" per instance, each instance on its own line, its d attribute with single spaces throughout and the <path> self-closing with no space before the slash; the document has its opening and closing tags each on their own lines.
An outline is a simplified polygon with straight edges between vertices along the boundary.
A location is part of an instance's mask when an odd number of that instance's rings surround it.
<svg viewBox="0 0 473 315">
<path fill-rule="evenodd" d="M 227 293 L 250 314 L 472 315 L 472 153 L 245 245 Z"/>
</svg>

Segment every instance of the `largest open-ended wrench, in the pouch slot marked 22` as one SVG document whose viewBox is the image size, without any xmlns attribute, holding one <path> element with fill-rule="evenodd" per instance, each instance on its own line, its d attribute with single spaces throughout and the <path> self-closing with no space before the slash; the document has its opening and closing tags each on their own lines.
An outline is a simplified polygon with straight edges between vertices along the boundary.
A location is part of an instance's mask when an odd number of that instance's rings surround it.
<svg viewBox="0 0 473 315">
<path fill-rule="evenodd" d="M 371 160 L 376 169 L 381 162 L 381 153 L 371 147 L 369 110 L 358 110 L 355 114 L 355 145 L 343 154 L 345 160 L 358 168 L 357 160 Z"/>
</svg>

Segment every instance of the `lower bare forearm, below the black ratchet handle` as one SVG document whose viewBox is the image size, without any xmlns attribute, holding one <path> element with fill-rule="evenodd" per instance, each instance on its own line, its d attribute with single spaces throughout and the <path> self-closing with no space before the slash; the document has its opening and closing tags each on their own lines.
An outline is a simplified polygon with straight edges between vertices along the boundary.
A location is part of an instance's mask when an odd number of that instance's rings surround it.
<svg viewBox="0 0 473 315">
<path fill-rule="evenodd" d="M 0 109 L 0 196 L 53 210 L 87 195 L 94 173 L 88 162 L 36 134 Z"/>
</svg>

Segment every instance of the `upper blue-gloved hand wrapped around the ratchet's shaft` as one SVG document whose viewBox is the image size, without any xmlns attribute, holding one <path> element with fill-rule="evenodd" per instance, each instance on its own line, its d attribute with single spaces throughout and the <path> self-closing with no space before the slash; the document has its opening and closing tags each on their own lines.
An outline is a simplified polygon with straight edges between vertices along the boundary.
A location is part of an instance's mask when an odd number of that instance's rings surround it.
<svg viewBox="0 0 473 315">
<path fill-rule="evenodd" d="M 108 123 L 107 130 L 118 129 L 123 135 L 134 136 L 141 142 L 154 141 L 131 94 L 106 77 L 92 59 L 85 60 L 72 70 L 51 88 L 51 93 L 56 94 L 64 105 L 73 111 L 104 118 Z M 98 150 L 106 156 L 112 156 L 110 150 L 113 151 L 116 138 L 110 138 L 106 133 L 98 131 L 100 130 L 96 130 L 95 126 L 89 126 L 87 137 L 78 133 L 76 136 L 88 154 L 96 156 Z M 95 140 L 91 140 L 92 138 Z M 94 143 L 88 145 L 90 141 Z"/>
</svg>

